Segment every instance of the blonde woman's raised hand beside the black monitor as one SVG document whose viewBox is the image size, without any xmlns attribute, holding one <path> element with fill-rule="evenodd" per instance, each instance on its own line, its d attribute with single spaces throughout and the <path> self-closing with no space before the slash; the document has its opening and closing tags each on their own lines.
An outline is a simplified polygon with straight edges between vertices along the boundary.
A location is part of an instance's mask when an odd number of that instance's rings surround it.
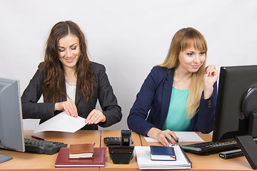
<svg viewBox="0 0 257 171">
<path fill-rule="evenodd" d="M 213 93 L 213 84 L 218 80 L 219 73 L 216 71 L 215 66 L 209 65 L 206 68 L 205 76 L 203 77 L 203 98 L 211 97 Z"/>
</svg>

